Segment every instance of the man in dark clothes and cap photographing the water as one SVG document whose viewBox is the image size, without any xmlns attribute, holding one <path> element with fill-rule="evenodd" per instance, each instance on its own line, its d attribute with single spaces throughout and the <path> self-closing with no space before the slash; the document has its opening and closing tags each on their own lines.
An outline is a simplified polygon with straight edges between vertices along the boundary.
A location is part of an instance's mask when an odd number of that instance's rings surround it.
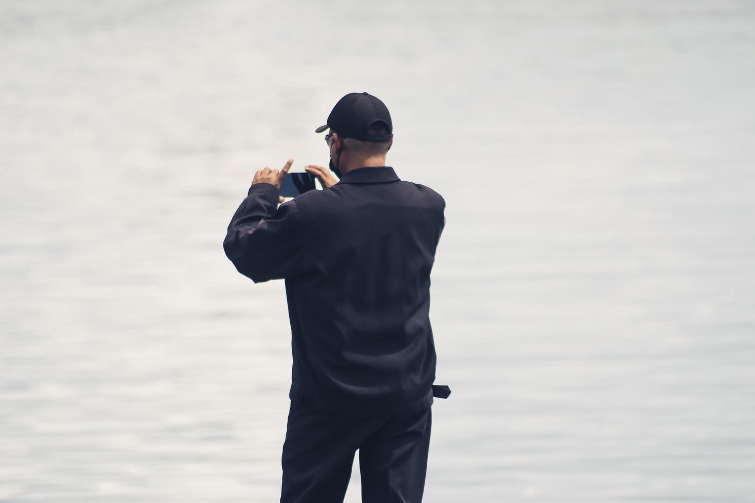
<svg viewBox="0 0 755 503">
<path fill-rule="evenodd" d="M 359 449 L 362 501 L 420 503 L 427 472 L 436 353 L 430 270 L 444 199 L 402 181 L 385 158 L 393 122 L 381 100 L 336 103 L 325 141 L 334 179 L 282 201 L 291 168 L 258 170 L 223 248 L 254 283 L 284 279 L 291 322 L 291 409 L 282 503 L 344 501 Z"/>
</svg>

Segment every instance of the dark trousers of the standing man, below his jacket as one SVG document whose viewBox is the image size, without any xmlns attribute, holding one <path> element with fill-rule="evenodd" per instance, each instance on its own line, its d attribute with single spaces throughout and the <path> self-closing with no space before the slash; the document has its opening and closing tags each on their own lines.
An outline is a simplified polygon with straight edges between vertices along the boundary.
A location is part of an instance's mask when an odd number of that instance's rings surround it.
<svg viewBox="0 0 755 503">
<path fill-rule="evenodd" d="M 362 503 L 421 503 L 432 408 L 394 419 L 320 413 L 291 400 L 281 503 L 342 503 L 359 449 Z"/>
</svg>

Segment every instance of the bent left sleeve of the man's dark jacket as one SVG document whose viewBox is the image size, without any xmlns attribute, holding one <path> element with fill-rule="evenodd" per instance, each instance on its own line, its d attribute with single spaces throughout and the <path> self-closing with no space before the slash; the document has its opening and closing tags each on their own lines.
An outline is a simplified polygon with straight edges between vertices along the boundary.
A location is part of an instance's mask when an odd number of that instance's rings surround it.
<svg viewBox="0 0 755 503">
<path fill-rule="evenodd" d="M 254 283 L 291 278 L 306 271 L 304 219 L 293 200 L 276 210 L 278 195 L 272 183 L 252 185 L 223 240 L 226 256 Z"/>
</svg>

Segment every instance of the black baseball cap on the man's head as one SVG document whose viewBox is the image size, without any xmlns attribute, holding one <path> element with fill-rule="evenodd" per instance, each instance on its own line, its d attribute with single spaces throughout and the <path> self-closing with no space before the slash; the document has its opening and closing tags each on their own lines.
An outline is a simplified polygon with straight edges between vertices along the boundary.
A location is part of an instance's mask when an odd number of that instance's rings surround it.
<svg viewBox="0 0 755 503">
<path fill-rule="evenodd" d="M 381 122 L 385 124 L 387 133 L 370 131 L 371 126 Z M 364 142 L 387 142 L 393 138 L 393 122 L 388 107 L 368 93 L 349 93 L 338 100 L 328 115 L 328 124 L 318 127 L 315 133 L 322 133 L 328 127 L 339 136 Z"/>
</svg>

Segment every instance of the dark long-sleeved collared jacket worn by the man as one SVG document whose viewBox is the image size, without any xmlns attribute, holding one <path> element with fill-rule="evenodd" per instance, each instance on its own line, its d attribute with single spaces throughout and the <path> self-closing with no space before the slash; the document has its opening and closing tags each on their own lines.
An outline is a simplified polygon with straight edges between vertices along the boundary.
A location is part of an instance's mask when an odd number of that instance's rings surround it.
<svg viewBox="0 0 755 503">
<path fill-rule="evenodd" d="M 433 385 L 428 316 L 442 196 L 390 166 L 350 170 L 280 206 L 278 196 L 270 183 L 252 185 L 223 249 L 254 283 L 285 279 L 289 397 L 363 417 L 418 412 L 448 397 L 448 386 Z"/>
</svg>

